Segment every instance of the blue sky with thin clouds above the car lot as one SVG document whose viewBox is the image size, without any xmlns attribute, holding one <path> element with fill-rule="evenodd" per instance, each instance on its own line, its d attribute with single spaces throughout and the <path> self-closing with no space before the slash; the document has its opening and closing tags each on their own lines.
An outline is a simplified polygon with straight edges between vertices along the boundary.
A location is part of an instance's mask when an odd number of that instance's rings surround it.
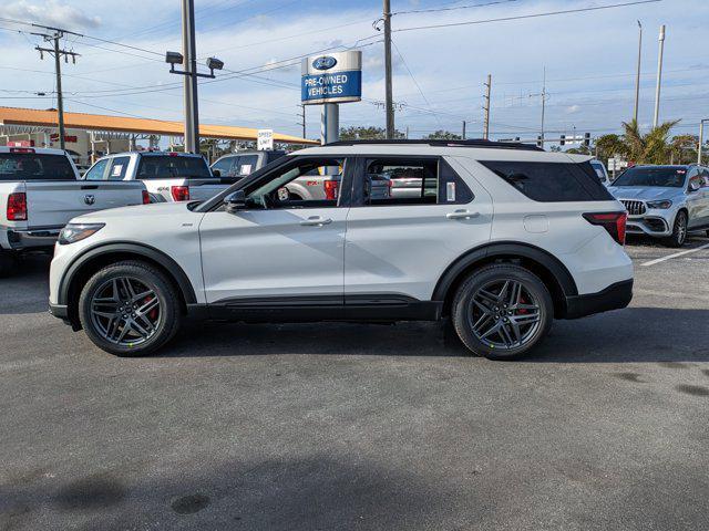
<svg viewBox="0 0 709 531">
<path fill-rule="evenodd" d="M 547 137 L 617 133 L 633 115 L 639 20 L 640 125 L 653 122 L 658 32 L 666 24 L 660 121 L 681 119 L 675 134 L 697 134 L 700 118 L 709 117 L 707 0 L 410 30 L 629 1 L 391 0 L 397 128 L 417 138 L 436 129 L 460 133 L 465 121 L 469 138 L 482 136 L 483 83 L 491 74 L 492 138 L 536 138 L 544 76 Z M 66 111 L 181 119 L 182 77 L 164 62 L 165 51 L 182 48 L 179 6 L 178 0 L 4 0 L 0 105 L 55 105 L 53 62 L 34 50 L 42 38 L 11 19 L 86 35 L 62 42 L 81 54 L 76 64 L 62 64 Z M 363 100 L 341 105 L 340 125 L 383 127 L 380 1 L 195 0 L 195 15 L 201 62 L 217 56 L 226 69 L 199 83 L 203 124 L 300 135 L 298 58 L 357 48 L 363 54 Z M 320 107 L 308 106 L 306 115 L 307 136 L 319 137 Z"/>
</svg>

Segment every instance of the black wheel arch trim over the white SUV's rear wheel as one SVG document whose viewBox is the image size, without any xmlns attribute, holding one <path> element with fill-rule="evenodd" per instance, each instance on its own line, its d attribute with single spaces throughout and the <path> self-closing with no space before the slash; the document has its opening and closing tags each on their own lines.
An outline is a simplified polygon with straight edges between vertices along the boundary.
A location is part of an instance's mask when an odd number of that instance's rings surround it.
<svg viewBox="0 0 709 531">
<path fill-rule="evenodd" d="M 578 295 L 574 278 L 561 260 L 538 247 L 514 241 L 489 243 L 460 256 L 439 279 L 432 300 L 443 302 L 443 314 L 450 314 L 458 287 L 474 270 L 495 262 L 518 263 L 535 273 L 549 290 L 554 316 L 566 314 L 567 298 Z"/>
</svg>

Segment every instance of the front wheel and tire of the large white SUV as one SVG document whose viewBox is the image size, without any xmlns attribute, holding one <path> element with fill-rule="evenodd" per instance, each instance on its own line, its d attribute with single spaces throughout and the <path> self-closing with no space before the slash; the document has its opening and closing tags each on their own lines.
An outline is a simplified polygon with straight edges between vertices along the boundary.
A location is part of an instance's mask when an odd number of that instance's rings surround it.
<svg viewBox="0 0 709 531">
<path fill-rule="evenodd" d="M 79 298 L 79 319 L 99 348 L 132 357 L 155 352 L 172 340 L 182 312 L 177 292 L 162 271 L 124 261 L 89 279 Z"/>
</svg>

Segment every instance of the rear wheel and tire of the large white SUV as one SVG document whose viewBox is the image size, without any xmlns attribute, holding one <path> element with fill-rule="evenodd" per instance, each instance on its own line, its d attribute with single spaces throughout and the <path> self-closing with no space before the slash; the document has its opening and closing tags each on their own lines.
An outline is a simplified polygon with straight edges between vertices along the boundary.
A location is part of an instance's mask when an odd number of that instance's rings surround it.
<svg viewBox="0 0 709 531">
<path fill-rule="evenodd" d="M 554 302 L 531 271 L 493 264 L 474 271 L 461 284 L 451 314 L 458 336 L 471 352 L 489 360 L 514 360 L 548 334 Z"/>
</svg>

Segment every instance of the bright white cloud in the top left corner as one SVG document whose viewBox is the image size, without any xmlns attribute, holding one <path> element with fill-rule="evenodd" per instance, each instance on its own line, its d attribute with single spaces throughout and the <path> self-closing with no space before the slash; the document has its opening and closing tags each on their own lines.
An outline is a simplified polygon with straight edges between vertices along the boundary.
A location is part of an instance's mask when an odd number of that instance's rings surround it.
<svg viewBox="0 0 709 531">
<path fill-rule="evenodd" d="M 66 29 L 101 25 L 101 17 L 86 14 L 73 6 L 60 3 L 58 0 L 47 0 L 43 3 L 20 0 L 1 4 L 0 15 Z"/>
</svg>

